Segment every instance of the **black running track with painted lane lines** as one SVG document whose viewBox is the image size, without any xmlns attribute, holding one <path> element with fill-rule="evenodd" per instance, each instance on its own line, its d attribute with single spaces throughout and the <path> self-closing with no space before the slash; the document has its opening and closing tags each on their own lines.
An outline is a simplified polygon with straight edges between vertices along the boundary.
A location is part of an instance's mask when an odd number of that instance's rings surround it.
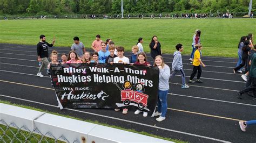
<svg viewBox="0 0 256 143">
<path fill-rule="evenodd" d="M 49 53 L 52 49 L 59 53 L 70 50 L 68 47 L 49 49 Z M 130 58 L 131 53 L 125 55 Z M 171 67 L 173 55 L 163 56 Z M 192 72 L 188 59 L 188 55 L 183 55 L 186 81 Z M 148 60 L 152 63 L 151 58 Z M 134 115 L 134 111 L 122 115 L 104 109 L 59 110 L 50 78 L 36 76 L 39 68 L 36 46 L 0 44 L 0 99 L 189 142 L 255 142 L 256 127 L 248 127 L 244 133 L 238 125 L 239 120 L 256 119 L 256 102 L 246 94 L 243 99 L 235 97 L 245 85 L 241 74 L 233 74 L 237 59 L 203 56 L 202 60 L 206 65 L 201 76 L 203 83 L 181 89 L 180 76 L 169 81 L 167 116 L 161 123 L 150 116 Z"/>
</svg>

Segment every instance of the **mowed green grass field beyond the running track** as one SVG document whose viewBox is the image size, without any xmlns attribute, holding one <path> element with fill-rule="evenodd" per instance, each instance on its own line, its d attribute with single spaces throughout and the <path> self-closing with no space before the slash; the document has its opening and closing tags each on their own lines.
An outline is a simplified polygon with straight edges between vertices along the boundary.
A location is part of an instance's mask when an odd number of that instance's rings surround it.
<svg viewBox="0 0 256 143">
<path fill-rule="evenodd" d="M 203 55 L 237 57 L 240 37 L 255 34 L 256 19 L 0 20 L 0 42 L 36 45 L 39 35 L 45 34 L 48 42 L 56 37 L 55 46 L 70 47 L 73 37 L 78 36 L 86 47 L 91 47 L 95 35 L 100 34 L 103 40 L 111 38 L 126 51 L 143 37 L 144 51 L 150 52 L 149 42 L 157 35 L 163 53 L 173 53 L 175 45 L 181 43 L 184 54 L 190 54 L 196 29 L 201 30 Z"/>
</svg>

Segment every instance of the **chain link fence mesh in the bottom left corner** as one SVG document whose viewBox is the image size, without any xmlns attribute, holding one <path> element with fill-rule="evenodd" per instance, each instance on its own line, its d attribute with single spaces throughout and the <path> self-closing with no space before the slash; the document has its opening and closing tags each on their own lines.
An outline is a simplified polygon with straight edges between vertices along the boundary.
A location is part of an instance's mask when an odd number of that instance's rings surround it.
<svg viewBox="0 0 256 143">
<path fill-rule="evenodd" d="M 18 127 L 13 122 L 6 124 L 3 119 L 0 124 L 0 142 L 69 142 L 63 135 L 54 137 L 50 132 L 42 134 L 37 127 L 30 131 L 26 126 Z"/>
</svg>

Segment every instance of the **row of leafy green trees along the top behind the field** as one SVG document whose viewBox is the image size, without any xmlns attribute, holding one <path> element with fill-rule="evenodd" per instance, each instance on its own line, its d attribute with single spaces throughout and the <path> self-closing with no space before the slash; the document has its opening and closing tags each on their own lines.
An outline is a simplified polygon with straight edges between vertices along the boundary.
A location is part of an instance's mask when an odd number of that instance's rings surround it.
<svg viewBox="0 0 256 143">
<path fill-rule="evenodd" d="M 125 14 L 247 12 L 249 3 L 250 0 L 123 0 L 123 8 Z M 0 0 L 1 15 L 97 15 L 120 11 L 121 0 Z"/>
</svg>

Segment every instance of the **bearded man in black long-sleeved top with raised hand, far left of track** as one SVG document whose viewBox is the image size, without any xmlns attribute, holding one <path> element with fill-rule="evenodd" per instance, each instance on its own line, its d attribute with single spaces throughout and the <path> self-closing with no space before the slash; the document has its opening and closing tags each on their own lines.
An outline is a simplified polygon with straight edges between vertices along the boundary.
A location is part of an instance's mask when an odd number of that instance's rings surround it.
<svg viewBox="0 0 256 143">
<path fill-rule="evenodd" d="M 45 35 L 40 35 L 40 41 L 37 44 L 37 55 L 38 55 L 38 61 L 42 62 L 42 65 L 40 66 L 37 76 L 39 77 L 44 77 L 42 75 L 42 70 L 44 67 L 48 66 L 49 61 L 48 61 L 48 57 L 49 57 L 49 53 L 48 53 L 48 46 L 52 47 L 53 44 L 55 43 L 55 38 L 53 38 L 52 40 L 52 44 L 49 44 L 48 42 L 46 42 L 46 38 Z"/>
</svg>

